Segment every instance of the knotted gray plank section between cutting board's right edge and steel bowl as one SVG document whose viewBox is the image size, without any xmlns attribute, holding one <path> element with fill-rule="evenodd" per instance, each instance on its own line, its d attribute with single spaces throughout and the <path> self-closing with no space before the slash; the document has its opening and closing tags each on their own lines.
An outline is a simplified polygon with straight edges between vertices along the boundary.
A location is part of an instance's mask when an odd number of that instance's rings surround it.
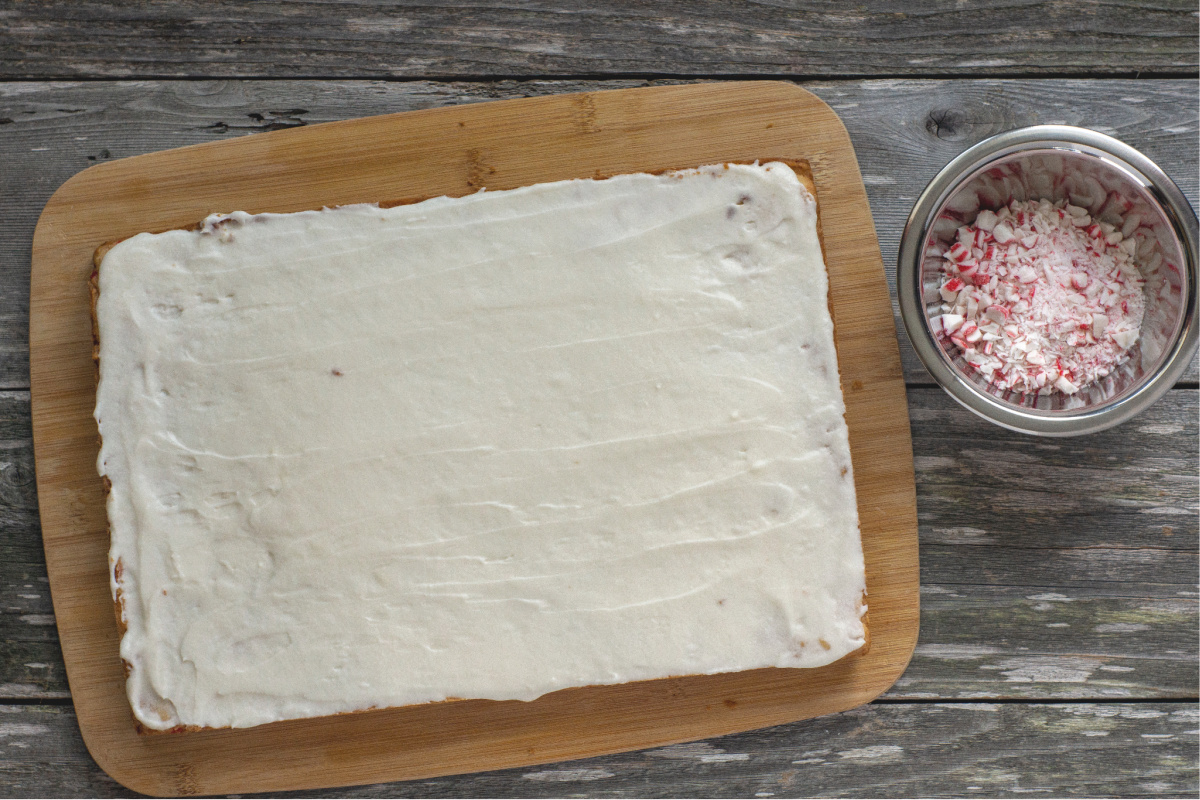
<svg viewBox="0 0 1200 800">
<path fill-rule="evenodd" d="M 895 260 L 913 203 L 971 145 L 1027 125 L 1075 125 L 1116 137 L 1158 163 L 1198 205 L 1198 104 L 1186 82 L 875 80 L 862 91 L 812 88 L 842 118 L 854 143 L 888 270 L 905 379 L 934 379 L 900 323 Z M 1194 357 L 1182 380 L 1200 375 Z"/>
</svg>

